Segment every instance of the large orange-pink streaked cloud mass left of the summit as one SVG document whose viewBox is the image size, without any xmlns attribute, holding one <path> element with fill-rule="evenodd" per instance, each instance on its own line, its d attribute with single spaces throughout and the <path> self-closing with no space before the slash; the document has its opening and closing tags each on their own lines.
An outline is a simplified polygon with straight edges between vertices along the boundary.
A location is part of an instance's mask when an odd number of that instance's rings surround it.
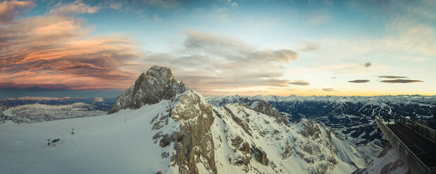
<svg viewBox="0 0 436 174">
<path fill-rule="evenodd" d="M 130 85 L 137 72 L 124 67 L 137 57 L 135 47 L 123 36 L 89 36 L 85 20 L 64 15 L 72 5 L 89 7 L 80 4 L 58 4 L 56 9 L 61 10 L 56 13 L 12 20 L 8 27 L 0 27 L 1 88 L 78 90 Z"/>
</svg>

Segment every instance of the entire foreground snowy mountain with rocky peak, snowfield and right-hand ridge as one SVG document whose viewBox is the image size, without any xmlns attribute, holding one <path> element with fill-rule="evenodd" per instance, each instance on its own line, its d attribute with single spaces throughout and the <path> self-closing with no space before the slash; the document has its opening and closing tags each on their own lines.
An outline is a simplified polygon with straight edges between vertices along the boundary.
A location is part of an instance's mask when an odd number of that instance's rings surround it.
<svg viewBox="0 0 436 174">
<path fill-rule="evenodd" d="M 108 113 L 1 124 L 0 173 L 351 173 L 367 166 L 323 123 L 290 123 L 268 102 L 215 107 L 166 67 L 141 74 Z M 47 138 L 60 141 L 44 146 Z"/>
</svg>

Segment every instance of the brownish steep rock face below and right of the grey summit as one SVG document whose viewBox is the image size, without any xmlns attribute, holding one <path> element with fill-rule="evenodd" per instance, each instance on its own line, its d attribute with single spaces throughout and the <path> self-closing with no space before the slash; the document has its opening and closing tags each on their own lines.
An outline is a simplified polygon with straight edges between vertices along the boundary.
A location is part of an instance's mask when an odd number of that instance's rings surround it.
<svg viewBox="0 0 436 174">
<path fill-rule="evenodd" d="M 173 140 L 177 154 L 171 159 L 179 166 L 179 172 L 199 173 L 197 163 L 203 163 L 207 170 L 217 173 L 214 152 L 210 151 L 213 149 L 212 106 L 201 100 L 197 93 L 190 91 L 180 98 L 179 105 L 172 111 L 172 116 L 182 123 L 180 133 L 183 134 Z"/>
</svg>

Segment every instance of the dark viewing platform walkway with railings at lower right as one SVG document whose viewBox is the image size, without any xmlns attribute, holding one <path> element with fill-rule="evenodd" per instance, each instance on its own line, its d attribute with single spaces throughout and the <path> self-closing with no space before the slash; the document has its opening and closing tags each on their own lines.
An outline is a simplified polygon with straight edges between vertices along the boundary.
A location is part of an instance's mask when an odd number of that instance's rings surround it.
<svg viewBox="0 0 436 174">
<path fill-rule="evenodd" d="M 411 173 L 436 173 L 436 131 L 404 116 L 375 117 L 380 130 Z"/>
</svg>

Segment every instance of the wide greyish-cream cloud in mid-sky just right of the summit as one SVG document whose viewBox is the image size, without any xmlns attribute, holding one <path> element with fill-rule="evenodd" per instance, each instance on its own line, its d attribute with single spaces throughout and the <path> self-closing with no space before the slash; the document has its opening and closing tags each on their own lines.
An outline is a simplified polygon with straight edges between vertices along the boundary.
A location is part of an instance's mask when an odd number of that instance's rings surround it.
<svg viewBox="0 0 436 174">
<path fill-rule="evenodd" d="M 180 80 L 205 95 L 216 89 L 235 93 L 254 86 L 286 87 L 284 65 L 299 59 L 297 51 L 259 49 L 230 36 L 195 30 L 186 35 L 182 48 L 149 53 L 144 62 L 172 68 Z"/>
</svg>

